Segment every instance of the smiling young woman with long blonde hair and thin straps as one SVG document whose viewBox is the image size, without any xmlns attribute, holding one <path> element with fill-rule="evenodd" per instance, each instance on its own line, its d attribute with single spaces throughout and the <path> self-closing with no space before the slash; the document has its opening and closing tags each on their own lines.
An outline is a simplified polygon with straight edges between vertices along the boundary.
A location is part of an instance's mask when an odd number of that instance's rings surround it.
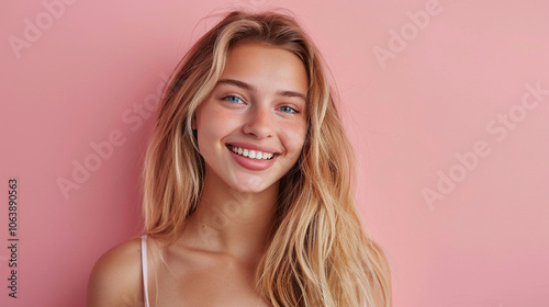
<svg viewBox="0 0 549 307">
<path fill-rule="evenodd" d="M 98 261 L 88 306 L 391 306 L 351 158 L 300 25 L 227 14 L 166 89 L 145 159 L 145 235 Z"/>
</svg>

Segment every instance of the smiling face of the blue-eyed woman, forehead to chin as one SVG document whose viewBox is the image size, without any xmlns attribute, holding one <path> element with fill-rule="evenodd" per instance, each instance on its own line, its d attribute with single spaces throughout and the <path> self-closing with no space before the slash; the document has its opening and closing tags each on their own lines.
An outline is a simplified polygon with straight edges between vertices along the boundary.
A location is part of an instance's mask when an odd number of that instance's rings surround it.
<svg viewBox="0 0 549 307">
<path fill-rule="evenodd" d="M 206 181 L 242 192 L 278 189 L 305 140 L 307 87 L 292 53 L 255 42 L 234 46 L 193 122 Z"/>
</svg>

